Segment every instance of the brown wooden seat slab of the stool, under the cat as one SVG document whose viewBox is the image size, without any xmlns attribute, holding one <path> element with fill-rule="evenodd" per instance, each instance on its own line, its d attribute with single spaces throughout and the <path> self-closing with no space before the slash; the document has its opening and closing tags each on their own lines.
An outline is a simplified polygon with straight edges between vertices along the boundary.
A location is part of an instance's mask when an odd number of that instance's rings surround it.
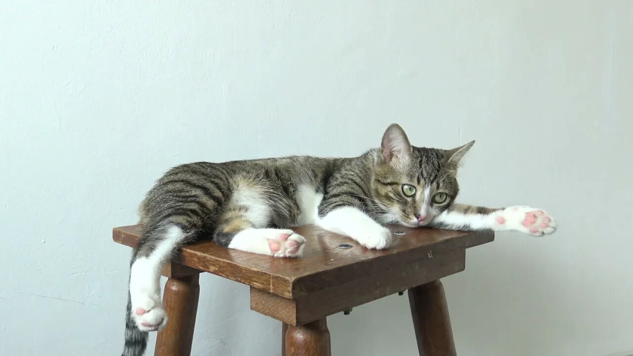
<svg viewBox="0 0 633 356">
<path fill-rule="evenodd" d="M 294 230 L 306 238 L 303 258 L 275 258 L 199 241 L 182 248 L 173 260 L 285 298 L 300 298 L 327 286 L 441 257 L 494 239 L 492 232 L 389 228 L 405 234 L 394 234 L 394 245 L 382 251 L 368 250 L 350 238 L 316 226 L 301 226 Z M 134 247 L 140 233 L 139 225 L 116 227 L 113 239 Z M 351 248 L 337 247 L 341 244 Z"/>
</svg>

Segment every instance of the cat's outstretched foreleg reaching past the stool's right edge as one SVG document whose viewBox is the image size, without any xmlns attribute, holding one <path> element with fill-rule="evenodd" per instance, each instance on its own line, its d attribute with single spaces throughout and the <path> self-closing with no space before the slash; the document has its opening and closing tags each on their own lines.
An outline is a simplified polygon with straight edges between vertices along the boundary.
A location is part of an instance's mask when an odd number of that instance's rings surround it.
<svg viewBox="0 0 633 356">
<path fill-rule="evenodd" d="M 437 215 L 430 226 L 466 231 L 520 231 L 543 236 L 556 231 L 556 220 L 537 208 L 516 206 L 493 209 L 454 204 Z"/>
</svg>

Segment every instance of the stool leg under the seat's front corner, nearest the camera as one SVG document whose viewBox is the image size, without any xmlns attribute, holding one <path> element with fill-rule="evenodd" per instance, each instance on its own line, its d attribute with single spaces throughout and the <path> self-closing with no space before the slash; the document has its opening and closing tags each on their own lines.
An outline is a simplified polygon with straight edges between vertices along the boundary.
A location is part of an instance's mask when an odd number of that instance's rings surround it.
<svg viewBox="0 0 633 356">
<path fill-rule="evenodd" d="M 325 318 L 301 326 L 287 326 L 285 356 L 331 356 L 330 331 Z"/>
</svg>

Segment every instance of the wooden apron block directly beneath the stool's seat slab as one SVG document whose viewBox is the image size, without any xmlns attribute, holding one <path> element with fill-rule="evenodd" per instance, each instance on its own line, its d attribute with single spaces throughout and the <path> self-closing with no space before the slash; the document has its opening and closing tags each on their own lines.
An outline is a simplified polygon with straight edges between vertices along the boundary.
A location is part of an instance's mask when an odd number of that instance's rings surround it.
<svg viewBox="0 0 633 356">
<path fill-rule="evenodd" d="M 251 310 L 291 325 L 306 324 L 465 269 L 465 250 L 384 270 L 380 275 L 291 299 L 251 287 Z"/>
</svg>

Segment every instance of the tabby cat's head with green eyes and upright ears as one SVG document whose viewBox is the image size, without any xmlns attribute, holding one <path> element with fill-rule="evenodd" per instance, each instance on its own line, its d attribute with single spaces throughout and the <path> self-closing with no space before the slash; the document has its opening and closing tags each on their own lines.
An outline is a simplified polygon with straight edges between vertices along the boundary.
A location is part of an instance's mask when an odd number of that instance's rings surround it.
<svg viewBox="0 0 633 356">
<path fill-rule="evenodd" d="M 475 141 L 454 149 L 411 146 L 398 124 L 382 136 L 380 162 L 373 173 L 372 193 L 390 208 L 388 218 L 404 226 L 429 224 L 453 204 L 460 188 L 456 174 L 461 158 Z"/>
</svg>

